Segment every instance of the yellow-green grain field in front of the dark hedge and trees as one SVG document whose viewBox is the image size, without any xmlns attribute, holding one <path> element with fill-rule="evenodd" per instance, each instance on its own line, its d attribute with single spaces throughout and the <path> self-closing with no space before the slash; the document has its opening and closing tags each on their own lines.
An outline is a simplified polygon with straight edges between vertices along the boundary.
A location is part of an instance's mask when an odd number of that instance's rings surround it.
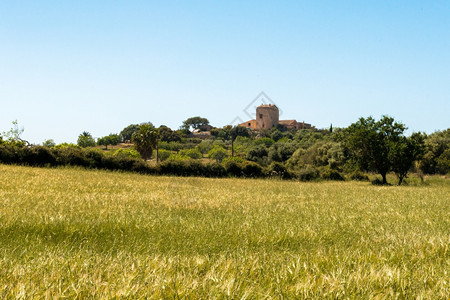
<svg viewBox="0 0 450 300">
<path fill-rule="evenodd" d="M 449 298 L 450 183 L 0 165 L 0 298 Z"/>
</svg>

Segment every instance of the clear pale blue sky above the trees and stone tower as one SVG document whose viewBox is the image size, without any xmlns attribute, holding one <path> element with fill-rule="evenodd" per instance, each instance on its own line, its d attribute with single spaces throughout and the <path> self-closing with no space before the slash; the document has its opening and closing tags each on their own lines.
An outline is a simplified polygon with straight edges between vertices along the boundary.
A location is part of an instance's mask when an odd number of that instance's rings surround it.
<svg viewBox="0 0 450 300">
<path fill-rule="evenodd" d="M 261 91 L 318 128 L 388 114 L 446 129 L 450 1 L 0 2 L 0 132 L 224 126 Z"/>
</svg>

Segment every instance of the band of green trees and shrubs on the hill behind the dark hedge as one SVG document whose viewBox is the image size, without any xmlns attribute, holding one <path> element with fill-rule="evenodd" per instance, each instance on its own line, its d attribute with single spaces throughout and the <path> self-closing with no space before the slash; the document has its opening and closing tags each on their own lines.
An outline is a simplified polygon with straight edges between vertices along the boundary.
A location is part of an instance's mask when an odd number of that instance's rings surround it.
<svg viewBox="0 0 450 300">
<path fill-rule="evenodd" d="M 49 140 L 43 147 L 54 150 L 78 147 L 102 152 L 116 160 L 127 157 L 153 166 L 155 163 L 171 165 L 175 175 L 201 176 L 198 171 L 201 167 L 193 174 L 186 170 L 193 165 L 211 163 L 223 167 L 221 174 L 239 176 L 244 168 L 250 168 L 252 172 L 244 173 L 301 180 L 342 180 L 345 177 L 364 180 L 367 172 L 374 172 L 381 176 L 381 180 L 376 181 L 380 184 L 387 184 L 389 173 L 397 176 L 398 184 L 404 182 L 409 172 L 447 174 L 450 129 L 409 136 L 405 135 L 406 129 L 404 124 L 388 116 L 379 120 L 360 118 L 347 128 L 288 130 L 279 126 L 259 131 L 232 126 L 214 128 L 206 118 L 193 117 L 184 121 L 178 130 L 167 126 L 156 128 L 150 122 L 131 124 L 118 134 L 97 140 L 85 131 L 79 135 L 77 145 L 56 145 Z M 200 139 L 193 133 L 202 130 L 208 131 L 209 138 Z M 1 152 L 5 152 L 8 145 L 36 147 L 20 140 L 17 128 L 3 133 L 0 141 L 0 161 L 3 162 Z M 128 143 L 130 147 L 108 148 L 120 143 Z M 99 146 L 102 149 L 98 149 Z M 174 168 L 181 171 L 175 172 Z"/>
</svg>

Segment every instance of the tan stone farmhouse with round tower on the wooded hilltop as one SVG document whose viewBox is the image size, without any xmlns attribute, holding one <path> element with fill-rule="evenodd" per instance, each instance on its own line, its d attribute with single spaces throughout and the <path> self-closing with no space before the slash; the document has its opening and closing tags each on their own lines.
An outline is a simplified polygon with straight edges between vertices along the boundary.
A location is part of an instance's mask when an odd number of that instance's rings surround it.
<svg viewBox="0 0 450 300">
<path fill-rule="evenodd" d="M 256 108 L 256 120 L 250 120 L 238 126 L 260 130 L 270 129 L 275 126 L 282 126 L 286 129 L 310 129 L 311 124 L 297 122 L 296 120 L 280 120 L 280 112 L 274 104 L 264 104 Z"/>
</svg>

